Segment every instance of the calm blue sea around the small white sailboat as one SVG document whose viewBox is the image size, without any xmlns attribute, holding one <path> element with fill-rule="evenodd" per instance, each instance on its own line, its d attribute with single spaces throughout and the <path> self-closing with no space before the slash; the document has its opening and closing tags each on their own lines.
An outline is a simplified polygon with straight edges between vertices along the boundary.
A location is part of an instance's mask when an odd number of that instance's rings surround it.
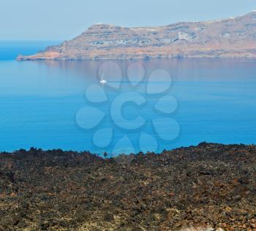
<svg viewBox="0 0 256 231">
<path fill-rule="evenodd" d="M 13 59 L 45 45 L 27 50 L 27 43 L 10 43 L 8 50 L 0 43 L 1 151 L 115 154 L 202 141 L 255 143 L 256 60 Z"/>
</svg>

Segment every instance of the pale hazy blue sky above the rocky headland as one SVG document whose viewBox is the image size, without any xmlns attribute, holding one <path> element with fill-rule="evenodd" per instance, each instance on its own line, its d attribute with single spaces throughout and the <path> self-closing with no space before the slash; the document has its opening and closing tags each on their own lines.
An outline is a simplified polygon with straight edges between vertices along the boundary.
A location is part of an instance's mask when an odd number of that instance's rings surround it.
<svg viewBox="0 0 256 231">
<path fill-rule="evenodd" d="M 255 0 L 0 0 L 0 40 L 64 40 L 94 23 L 158 26 L 253 9 Z"/>
</svg>

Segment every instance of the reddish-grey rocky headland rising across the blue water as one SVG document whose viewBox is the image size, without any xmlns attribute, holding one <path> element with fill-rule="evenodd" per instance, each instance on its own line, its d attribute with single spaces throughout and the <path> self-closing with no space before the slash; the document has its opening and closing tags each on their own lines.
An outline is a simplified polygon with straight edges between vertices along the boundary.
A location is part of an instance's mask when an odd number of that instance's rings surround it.
<svg viewBox="0 0 256 231">
<path fill-rule="evenodd" d="M 240 17 L 168 26 L 97 24 L 59 46 L 18 60 L 256 57 L 256 11 Z"/>
</svg>

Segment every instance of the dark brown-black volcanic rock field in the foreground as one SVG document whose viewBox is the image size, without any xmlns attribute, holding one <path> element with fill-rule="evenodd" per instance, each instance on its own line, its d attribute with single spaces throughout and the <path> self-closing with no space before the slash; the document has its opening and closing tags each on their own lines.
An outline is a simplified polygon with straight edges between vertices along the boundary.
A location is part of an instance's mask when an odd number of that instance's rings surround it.
<svg viewBox="0 0 256 231">
<path fill-rule="evenodd" d="M 0 230 L 256 230 L 256 146 L 0 154 Z"/>
</svg>

